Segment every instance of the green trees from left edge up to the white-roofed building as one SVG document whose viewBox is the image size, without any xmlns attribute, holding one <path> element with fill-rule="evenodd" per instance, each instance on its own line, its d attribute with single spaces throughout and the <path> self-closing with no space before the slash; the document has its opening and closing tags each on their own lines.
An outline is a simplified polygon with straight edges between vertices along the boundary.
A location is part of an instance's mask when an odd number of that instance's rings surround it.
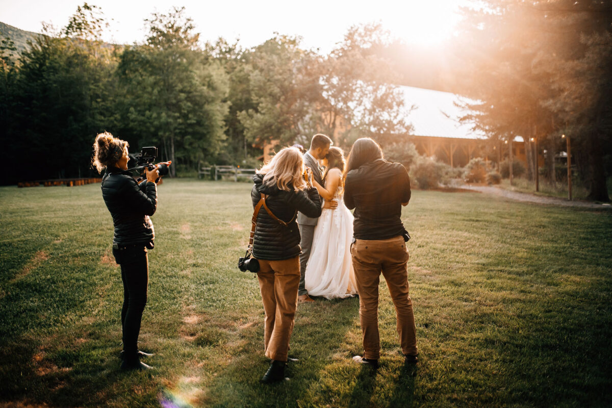
<svg viewBox="0 0 612 408">
<path fill-rule="evenodd" d="M 379 24 L 351 28 L 327 55 L 280 34 L 252 48 L 222 38 L 201 45 L 182 8 L 152 13 L 146 27 L 143 42 L 110 45 L 102 11 L 85 3 L 65 28 L 45 26 L 18 58 L 4 39 L 5 184 L 91 175 L 91 145 L 105 130 L 132 152 L 158 146 L 176 174 L 198 163 L 256 166 L 270 141 L 307 146 L 322 132 L 349 146 L 410 129 L 389 64 L 362 52 Z"/>
</svg>

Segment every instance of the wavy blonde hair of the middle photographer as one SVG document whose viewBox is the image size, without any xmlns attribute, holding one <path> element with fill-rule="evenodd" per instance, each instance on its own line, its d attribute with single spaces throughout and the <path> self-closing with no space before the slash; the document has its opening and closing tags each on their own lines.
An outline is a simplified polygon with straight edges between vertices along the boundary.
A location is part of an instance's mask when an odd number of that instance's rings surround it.
<svg viewBox="0 0 612 408">
<path fill-rule="evenodd" d="M 270 163 L 264 165 L 260 174 L 264 174 L 264 184 L 276 184 L 280 190 L 295 191 L 304 190 L 304 157 L 297 147 L 283 147 L 280 152 L 272 157 Z"/>
</svg>

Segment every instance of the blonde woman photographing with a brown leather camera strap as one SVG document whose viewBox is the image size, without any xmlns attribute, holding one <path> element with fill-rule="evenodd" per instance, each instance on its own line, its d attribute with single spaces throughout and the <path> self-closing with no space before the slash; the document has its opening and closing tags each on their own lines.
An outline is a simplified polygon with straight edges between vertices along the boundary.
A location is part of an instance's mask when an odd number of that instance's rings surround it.
<svg viewBox="0 0 612 408">
<path fill-rule="evenodd" d="M 272 383 L 285 378 L 297 308 L 301 251 L 297 212 L 319 217 L 321 198 L 313 187 L 312 172 L 305 168 L 302 152 L 297 147 L 280 150 L 253 180 L 253 207 L 261 199 L 265 202 L 256 219 L 253 258 L 259 261 L 257 277 L 266 314 L 264 347 L 266 357 L 272 360 L 261 382 Z"/>
</svg>

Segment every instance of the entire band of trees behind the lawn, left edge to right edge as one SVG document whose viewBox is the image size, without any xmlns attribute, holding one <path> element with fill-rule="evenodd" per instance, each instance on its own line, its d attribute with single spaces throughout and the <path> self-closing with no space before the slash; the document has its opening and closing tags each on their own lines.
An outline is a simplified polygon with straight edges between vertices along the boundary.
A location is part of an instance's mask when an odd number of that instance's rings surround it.
<svg viewBox="0 0 612 408">
<path fill-rule="evenodd" d="M 2 184 L 92 174 L 91 143 L 104 130 L 132 151 L 158 146 L 175 174 L 198 163 L 256 166 L 267 142 L 307 145 L 316 132 L 345 148 L 361 136 L 389 146 L 411 131 L 398 89 L 407 84 L 464 95 L 462 121 L 496 143 L 523 136 L 528 157 L 544 152 L 544 168 L 528 160 L 529 177 L 554 180 L 567 135 L 590 198 L 608 201 L 610 2 L 480 6 L 463 9 L 457 34 L 437 50 L 393 39 L 381 24 L 354 26 L 326 55 L 282 34 L 252 48 L 201 42 L 177 8 L 153 13 L 143 40 L 110 45 L 105 16 L 88 4 L 24 49 L 24 32 L 2 32 L 0 128 L 12 169 Z"/>
</svg>

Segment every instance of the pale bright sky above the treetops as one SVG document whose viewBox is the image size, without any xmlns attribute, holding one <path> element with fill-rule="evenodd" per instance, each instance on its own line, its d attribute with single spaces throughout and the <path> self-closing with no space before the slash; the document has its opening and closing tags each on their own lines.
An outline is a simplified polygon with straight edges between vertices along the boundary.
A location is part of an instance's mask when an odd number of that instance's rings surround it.
<svg viewBox="0 0 612 408">
<path fill-rule="evenodd" d="M 0 0 L 0 21 L 34 32 L 40 32 L 42 21 L 62 28 L 83 1 Z M 460 19 L 458 6 L 468 3 L 468 0 L 88 0 L 88 4 L 102 9 L 109 21 L 105 37 L 109 42 L 142 42 L 143 20 L 152 12 L 185 6 L 203 41 L 214 41 L 220 36 L 229 41 L 239 37 L 242 46 L 250 47 L 278 32 L 300 35 L 303 46 L 319 48 L 321 53 L 332 50 L 350 26 L 378 21 L 394 37 L 408 43 L 435 45 L 452 35 Z"/>
</svg>

